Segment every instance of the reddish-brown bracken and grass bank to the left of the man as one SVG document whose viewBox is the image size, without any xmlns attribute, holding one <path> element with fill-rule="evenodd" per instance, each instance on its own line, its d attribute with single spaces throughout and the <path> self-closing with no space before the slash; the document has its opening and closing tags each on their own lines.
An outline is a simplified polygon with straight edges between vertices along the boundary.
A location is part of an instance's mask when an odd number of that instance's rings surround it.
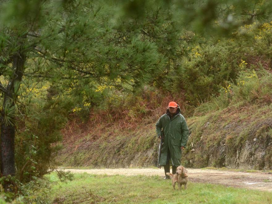
<svg viewBox="0 0 272 204">
<path fill-rule="evenodd" d="M 141 167 L 156 163 L 157 142 L 150 121 L 136 127 L 82 124 L 69 129 L 57 160 L 65 166 Z"/>
</svg>

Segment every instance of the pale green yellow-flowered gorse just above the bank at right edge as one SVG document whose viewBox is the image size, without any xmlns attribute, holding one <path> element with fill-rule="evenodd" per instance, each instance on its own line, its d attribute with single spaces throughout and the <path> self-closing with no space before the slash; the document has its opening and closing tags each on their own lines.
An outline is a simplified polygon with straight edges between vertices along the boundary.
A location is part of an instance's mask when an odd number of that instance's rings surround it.
<svg viewBox="0 0 272 204">
<path fill-rule="evenodd" d="M 237 83 L 228 83 L 221 87 L 219 96 L 195 109 L 195 114 L 210 110 L 222 110 L 235 104 L 266 104 L 272 103 L 272 74 L 266 70 L 241 71 Z"/>
</svg>

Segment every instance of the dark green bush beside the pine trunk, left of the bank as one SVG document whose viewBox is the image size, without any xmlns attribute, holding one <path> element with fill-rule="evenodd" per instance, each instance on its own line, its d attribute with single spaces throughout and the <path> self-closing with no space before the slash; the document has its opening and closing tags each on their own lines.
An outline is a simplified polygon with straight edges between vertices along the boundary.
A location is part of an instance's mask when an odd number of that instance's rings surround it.
<svg viewBox="0 0 272 204">
<path fill-rule="evenodd" d="M 34 90 L 35 91 L 35 90 Z M 40 177 L 56 166 L 54 155 L 61 149 L 58 144 L 62 140 L 61 130 L 67 122 L 72 102 L 70 98 L 58 93 L 47 96 L 40 95 L 22 100 L 19 110 L 15 137 L 16 178 L 25 183 Z"/>
</svg>

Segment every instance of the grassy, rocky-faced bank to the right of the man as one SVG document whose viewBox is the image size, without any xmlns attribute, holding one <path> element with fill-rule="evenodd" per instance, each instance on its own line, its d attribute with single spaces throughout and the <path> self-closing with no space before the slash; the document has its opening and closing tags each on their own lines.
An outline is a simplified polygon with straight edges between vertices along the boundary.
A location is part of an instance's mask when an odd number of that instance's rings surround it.
<svg viewBox="0 0 272 204">
<path fill-rule="evenodd" d="M 232 106 L 189 119 L 190 167 L 272 168 L 272 105 Z"/>
</svg>

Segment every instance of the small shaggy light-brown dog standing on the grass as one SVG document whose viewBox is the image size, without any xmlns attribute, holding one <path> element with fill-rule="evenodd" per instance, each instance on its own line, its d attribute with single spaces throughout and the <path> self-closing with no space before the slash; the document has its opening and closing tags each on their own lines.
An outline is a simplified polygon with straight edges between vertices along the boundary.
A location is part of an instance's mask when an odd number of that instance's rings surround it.
<svg viewBox="0 0 272 204">
<path fill-rule="evenodd" d="M 175 190 L 175 185 L 178 183 L 179 189 L 184 184 L 184 188 L 187 189 L 188 175 L 187 170 L 183 166 L 178 166 L 176 168 L 176 173 L 166 173 L 168 176 L 173 176 L 172 178 L 172 186 Z"/>
</svg>

